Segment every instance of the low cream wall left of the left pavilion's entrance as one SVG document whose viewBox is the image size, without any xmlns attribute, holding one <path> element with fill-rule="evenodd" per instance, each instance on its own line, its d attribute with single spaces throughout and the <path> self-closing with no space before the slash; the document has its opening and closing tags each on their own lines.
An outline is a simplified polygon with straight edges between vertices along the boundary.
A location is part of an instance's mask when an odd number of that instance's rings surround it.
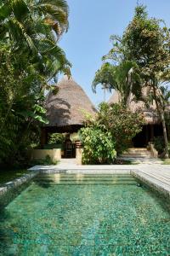
<svg viewBox="0 0 170 256">
<path fill-rule="evenodd" d="M 31 150 L 31 160 L 45 159 L 47 156 L 51 158 L 52 161 L 57 161 L 61 159 L 61 148 L 54 149 L 32 149 Z"/>
</svg>

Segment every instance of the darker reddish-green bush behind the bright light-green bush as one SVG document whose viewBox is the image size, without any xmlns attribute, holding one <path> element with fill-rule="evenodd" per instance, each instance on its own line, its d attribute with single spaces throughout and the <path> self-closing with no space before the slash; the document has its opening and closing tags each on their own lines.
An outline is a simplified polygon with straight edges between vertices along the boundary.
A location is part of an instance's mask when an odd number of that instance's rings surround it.
<svg viewBox="0 0 170 256">
<path fill-rule="evenodd" d="M 116 152 L 121 154 L 128 148 L 133 137 L 141 131 L 144 117 L 143 114 L 133 113 L 121 104 L 102 103 L 99 106 L 98 123 L 111 132 L 116 142 Z"/>
</svg>

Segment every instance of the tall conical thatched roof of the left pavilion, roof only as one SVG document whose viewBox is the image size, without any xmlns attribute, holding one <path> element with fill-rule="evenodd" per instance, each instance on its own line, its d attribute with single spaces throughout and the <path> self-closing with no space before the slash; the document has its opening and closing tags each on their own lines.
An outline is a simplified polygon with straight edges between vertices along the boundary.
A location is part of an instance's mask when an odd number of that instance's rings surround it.
<svg viewBox="0 0 170 256">
<path fill-rule="evenodd" d="M 96 112 L 93 103 L 72 78 L 66 76 L 57 84 L 59 92 L 54 95 L 50 92 L 47 96 L 46 109 L 49 120 L 48 127 L 65 127 L 69 125 L 82 125 L 84 114 L 82 111 Z"/>
</svg>

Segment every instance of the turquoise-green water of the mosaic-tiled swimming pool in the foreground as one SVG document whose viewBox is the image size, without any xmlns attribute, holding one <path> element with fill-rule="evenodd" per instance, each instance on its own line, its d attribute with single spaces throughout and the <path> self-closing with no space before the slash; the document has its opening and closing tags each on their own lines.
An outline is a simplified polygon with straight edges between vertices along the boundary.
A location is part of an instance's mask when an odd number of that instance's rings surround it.
<svg viewBox="0 0 170 256">
<path fill-rule="evenodd" d="M 130 175 L 41 175 L 0 214 L 0 255 L 170 255 L 170 203 Z"/>
</svg>

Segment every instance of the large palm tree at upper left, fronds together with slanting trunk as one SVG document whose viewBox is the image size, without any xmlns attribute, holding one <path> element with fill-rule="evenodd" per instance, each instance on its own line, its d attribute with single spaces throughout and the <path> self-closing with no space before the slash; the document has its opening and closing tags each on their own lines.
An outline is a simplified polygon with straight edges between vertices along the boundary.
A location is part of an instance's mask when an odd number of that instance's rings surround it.
<svg viewBox="0 0 170 256">
<path fill-rule="evenodd" d="M 65 0 L 0 1 L 0 44 L 2 49 L 4 47 L 8 49 L 8 53 L 11 52 L 11 59 L 16 59 L 17 63 L 25 65 L 28 60 L 26 73 L 30 87 L 26 94 L 21 92 L 24 95 L 20 98 L 32 97 L 32 104 L 37 103 L 35 97 L 39 98 L 48 88 L 48 80 L 59 72 L 70 74 L 71 63 L 67 61 L 63 49 L 57 45 L 59 37 L 68 29 L 68 13 Z M 20 75 L 20 70 L 18 73 Z M 25 84 L 23 88 L 26 88 Z M 18 89 L 20 90 L 19 86 Z M 13 92 L 1 131 L 16 97 L 20 95 L 20 91 Z"/>
</svg>

